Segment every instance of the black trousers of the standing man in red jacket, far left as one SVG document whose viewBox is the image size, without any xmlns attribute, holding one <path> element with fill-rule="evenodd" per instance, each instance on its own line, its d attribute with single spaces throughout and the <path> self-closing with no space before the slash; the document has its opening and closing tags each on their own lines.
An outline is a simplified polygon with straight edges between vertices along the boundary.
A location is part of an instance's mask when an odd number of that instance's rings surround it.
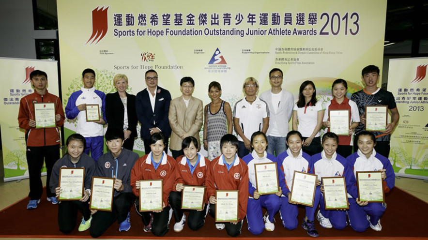
<svg viewBox="0 0 428 240">
<path fill-rule="evenodd" d="M 41 170 L 43 161 L 46 165 L 46 186 L 49 186 L 50 174 L 55 162 L 60 159 L 60 145 L 42 146 L 42 147 L 28 147 L 27 146 L 27 164 L 28 173 L 30 175 L 30 193 L 28 196 L 31 200 L 40 199 L 43 193 L 43 183 L 41 177 Z M 46 187 L 47 197 L 55 196 L 51 193 L 50 188 Z"/>
</svg>

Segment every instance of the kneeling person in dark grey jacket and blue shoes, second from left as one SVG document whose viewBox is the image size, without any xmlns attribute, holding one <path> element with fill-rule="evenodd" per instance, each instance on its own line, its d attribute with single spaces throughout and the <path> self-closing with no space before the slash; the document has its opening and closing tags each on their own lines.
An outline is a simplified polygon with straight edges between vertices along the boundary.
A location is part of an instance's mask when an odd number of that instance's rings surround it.
<svg viewBox="0 0 428 240">
<path fill-rule="evenodd" d="M 122 129 L 108 128 L 106 144 L 108 152 L 98 158 L 95 177 L 114 178 L 112 211 L 92 212 L 90 233 L 93 238 L 101 236 L 110 225 L 117 221 L 119 231 L 131 228 L 129 210 L 135 196 L 131 188 L 131 169 L 138 159 L 138 154 L 122 148 L 124 134 Z"/>
</svg>

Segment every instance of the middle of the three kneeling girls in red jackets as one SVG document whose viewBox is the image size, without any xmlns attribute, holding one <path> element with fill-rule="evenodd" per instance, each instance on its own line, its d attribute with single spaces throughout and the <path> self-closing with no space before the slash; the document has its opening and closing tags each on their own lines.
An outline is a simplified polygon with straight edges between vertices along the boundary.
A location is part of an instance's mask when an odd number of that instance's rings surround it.
<svg viewBox="0 0 428 240">
<path fill-rule="evenodd" d="M 208 213 L 208 197 L 205 195 L 204 208 L 202 210 L 189 210 L 188 219 L 181 209 L 183 185 L 205 186 L 210 161 L 198 153 L 198 140 L 193 136 L 183 139 L 182 149 L 184 156 L 177 158 L 175 170 L 175 181 L 172 191 L 169 193 L 169 205 L 174 211 L 175 225 L 174 232 L 181 232 L 184 223 L 192 230 L 198 230 L 205 223 Z"/>
</svg>

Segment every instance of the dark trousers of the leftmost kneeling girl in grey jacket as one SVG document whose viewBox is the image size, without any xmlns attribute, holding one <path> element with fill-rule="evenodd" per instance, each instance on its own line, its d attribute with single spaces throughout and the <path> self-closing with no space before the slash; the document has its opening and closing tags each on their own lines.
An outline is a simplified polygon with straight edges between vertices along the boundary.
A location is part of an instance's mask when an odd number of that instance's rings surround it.
<svg viewBox="0 0 428 240">
<path fill-rule="evenodd" d="M 77 211 L 83 214 L 83 219 L 88 221 L 91 217 L 89 201 L 61 201 L 58 204 L 58 225 L 62 233 L 70 233 L 76 227 Z"/>
</svg>

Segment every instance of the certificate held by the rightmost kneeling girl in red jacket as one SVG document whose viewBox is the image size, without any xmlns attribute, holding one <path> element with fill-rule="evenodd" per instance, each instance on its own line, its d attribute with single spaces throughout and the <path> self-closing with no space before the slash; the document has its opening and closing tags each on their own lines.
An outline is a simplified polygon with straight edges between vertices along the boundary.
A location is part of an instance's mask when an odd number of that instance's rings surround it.
<svg viewBox="0 0 428 240">
<path fill-rule="evenodd" d="M 215 191 L 215 222 L 237 222 L 239 190 Z"/>
</svg>

